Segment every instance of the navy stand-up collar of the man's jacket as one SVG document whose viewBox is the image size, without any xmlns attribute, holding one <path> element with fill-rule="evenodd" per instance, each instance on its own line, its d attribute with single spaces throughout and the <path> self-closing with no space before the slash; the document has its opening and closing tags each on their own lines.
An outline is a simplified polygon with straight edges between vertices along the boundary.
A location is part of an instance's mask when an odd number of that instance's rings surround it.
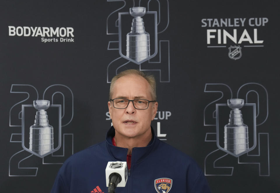
<svg viewBox="0 0 280 193">
<path fill-rule="evenodd" d="M 151 130 L 152 130 L 153 138 L 150 141 L 150 143 L 146 147 L 134 147 L 132 149 L 131 163 L 136 163 L 141 161 L 150 153 L 150 151 L 155 146 L 158 145 L 160 140 L 155 136 L 155 132 L 152 126 L 151 126 Z M 115 128 L 111 126 L 106 136 L 106 147 L 113 160 L 108 160 L 108 161 L 126 161 L 128 149 L 114 146 L 112 143 L 112 137 L 114 136 L 115 136 Z"/>
</svg>

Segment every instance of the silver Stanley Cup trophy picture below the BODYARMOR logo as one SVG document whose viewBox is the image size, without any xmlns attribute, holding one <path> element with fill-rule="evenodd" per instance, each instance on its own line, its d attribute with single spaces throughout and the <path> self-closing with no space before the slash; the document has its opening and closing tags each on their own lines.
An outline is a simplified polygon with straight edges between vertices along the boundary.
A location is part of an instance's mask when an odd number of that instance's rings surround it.
<svg viewBox="0 0 280 193">
<path fill-rule="evenodd" d="M 35 123 L 30 127 L 29 149 L 42 156 L 53 150 L 53 126 L 49 125 L 48 115 L 45 111 L 50 107 L 50 101 L 33 101 L 33 106 L 38 111 Z"/>
</svg>

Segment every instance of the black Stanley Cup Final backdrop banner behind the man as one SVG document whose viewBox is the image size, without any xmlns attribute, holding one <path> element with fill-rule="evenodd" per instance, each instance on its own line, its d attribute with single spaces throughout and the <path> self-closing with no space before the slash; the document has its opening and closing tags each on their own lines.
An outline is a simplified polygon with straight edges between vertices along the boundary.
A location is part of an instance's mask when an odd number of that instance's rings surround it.
<svg viewBox="0 0 280 193">
<path fill-rule="evenodd" d="M 2 1 L 0 192 L 50 192 L 69 156 L 103 141 L 110 82 L 126 69 L 155 76 L 155 133 L 212 192 L 278 192 L 279 6 Z"/>
</svg>

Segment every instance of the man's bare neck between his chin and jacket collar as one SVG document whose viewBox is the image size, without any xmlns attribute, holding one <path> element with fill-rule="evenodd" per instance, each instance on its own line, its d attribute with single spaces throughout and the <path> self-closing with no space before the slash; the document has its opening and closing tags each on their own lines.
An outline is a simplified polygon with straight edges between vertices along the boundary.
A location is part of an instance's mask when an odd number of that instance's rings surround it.
<svg viewBox="0 0 280 193">
<path fill-rule="evenodd" d="M 146 147 L 152 140 L 153 135 L 150 129 L 146 133 L 135 137 L 126 137 L 115 131 L 115 143 L 118 147 L 127 148 L 128 155 L 132 154 L 132 148 L 134 147 Z"/>
</svg>

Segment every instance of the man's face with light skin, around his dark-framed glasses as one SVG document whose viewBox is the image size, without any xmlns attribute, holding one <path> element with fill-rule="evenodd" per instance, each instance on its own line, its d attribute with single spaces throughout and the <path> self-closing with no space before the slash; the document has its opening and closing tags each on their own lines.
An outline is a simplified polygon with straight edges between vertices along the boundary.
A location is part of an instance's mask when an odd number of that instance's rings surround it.
<svg viewBox="0 0 280 193">
<path fill-rule="evenodd" d="M 148 81 L 141 76 L 128 75 L 120 77 L 114 84 L 112 99 L 147 99 L 152 101 L 151 89 Z M 157 112 L 157 102 L 151 102 L 148 109 L 135 109 L 132 101 L 125 109 L 113 107 L 108 101 L 109 113 L 116 133 L 125 137 L 138 137 L 150 130 L 151 121 Z"/>
</svg>

